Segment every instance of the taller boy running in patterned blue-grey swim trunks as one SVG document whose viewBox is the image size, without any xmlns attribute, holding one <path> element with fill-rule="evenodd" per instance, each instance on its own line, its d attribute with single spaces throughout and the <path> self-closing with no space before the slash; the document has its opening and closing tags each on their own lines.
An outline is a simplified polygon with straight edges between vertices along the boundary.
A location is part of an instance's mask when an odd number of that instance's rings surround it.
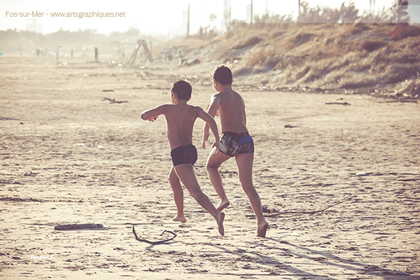
<svg viewBox="0 0 420 280">
<path fill-rule="evenodd" d="M 268 223 L 262 214 L 260 196 L 258 195 L 252 180 L 254 145 L 251 135 L 246 128 L 246 114 L 244 99 L 232 90 L 232 71 L 224 65 L 218 66 L 213 74 L 214 89 L 218 92 L 211 96 L 211 104 L 207 112 L 210 116 L 220 116 L 223 136 L 220 141 L 220 151 L 211 151 L 207 159 L 207 174 L 211 184 L 221 202 L 216 209 L 222 211 L 229 206 L 230 202 L 223 189 L 223 182 L 218 168 L 223 162 L 234 158 L 237 162 L 239 181 L 248 196 L 249 202 L 257 218 L 257 236 L 265 237 Z M 215 134 L 216 135 L 216 134 Z M 209 125 L 204 126 L 202 147 L 206 148 L 209 139 Z M 214 148 L 215 149 L 215 148 Z"/>
</svg>

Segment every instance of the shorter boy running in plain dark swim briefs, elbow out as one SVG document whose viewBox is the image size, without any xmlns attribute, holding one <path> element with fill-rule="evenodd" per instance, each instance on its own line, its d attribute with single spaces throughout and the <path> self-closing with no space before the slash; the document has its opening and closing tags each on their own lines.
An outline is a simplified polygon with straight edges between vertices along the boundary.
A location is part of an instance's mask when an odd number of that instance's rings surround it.
<svg viewBox="0 0 420 280">
<path fill-rule="evenodd" d="M 193 91 L 185 80 L 176 80 L 172 87 L 172 104 L 162 104 L 154 109 L 141 113 L 143 120 L 155 121 L 158 116 L 165 115 L 167 120 L 167 137 L 171 147 L 171 157 L 174 166 L 169 172 L 169 183 L 174 193 L 177 215 L 174 221 L 186 222 L 183 214 L 183 190 L 180 181 L 186 186 L 190 195 L 216 219 L 218 232 L 225 235 L 223 220 L 225 214 L 218 211 L 205 195 L 195 178 L 193 165 L 197 160 L 197 149 L 193 146 L 193 127 L 195 120 L 204 120 L 216 137 L 215 153 L 219 149 L 218 130 L 216 121 L 198 106 L 187 104 Z"/>
</svg>

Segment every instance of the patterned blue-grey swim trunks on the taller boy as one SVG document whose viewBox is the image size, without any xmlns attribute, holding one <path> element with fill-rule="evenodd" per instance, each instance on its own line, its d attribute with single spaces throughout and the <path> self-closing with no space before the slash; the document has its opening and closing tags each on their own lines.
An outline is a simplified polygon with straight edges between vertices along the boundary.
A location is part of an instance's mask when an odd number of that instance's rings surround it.
<svg viewBox="0 0 420 280">
<path fill-rule="evenodd" d="M 253 139 L 248 132 L 225 132 L 221 138 L 221 152 L 230 157 L 240 153 L 253 153 Z"/>
</svg>

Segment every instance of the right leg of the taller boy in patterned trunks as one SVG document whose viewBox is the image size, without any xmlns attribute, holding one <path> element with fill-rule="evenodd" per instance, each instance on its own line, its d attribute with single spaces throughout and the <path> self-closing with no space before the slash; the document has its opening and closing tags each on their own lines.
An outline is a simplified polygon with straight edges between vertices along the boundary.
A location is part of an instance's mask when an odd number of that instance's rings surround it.
<svg viewBox="0 0 420 280">
<path fill-rule="evenodd" d="M 253 166 L 253 153 L 242 153 L 235 157 L 239 172 L 239 181 L 244 189 L 248 200 L 251 203 L 251 207 L 257 218 L 257 236 L 265 237 L 265 233 L 268 229 L 268 223 L 265 221 L 264 215 L 262 214 L 262 205 L 260 196 L 255 190 L 252 181 L 252 166 Z"/>
</svg>

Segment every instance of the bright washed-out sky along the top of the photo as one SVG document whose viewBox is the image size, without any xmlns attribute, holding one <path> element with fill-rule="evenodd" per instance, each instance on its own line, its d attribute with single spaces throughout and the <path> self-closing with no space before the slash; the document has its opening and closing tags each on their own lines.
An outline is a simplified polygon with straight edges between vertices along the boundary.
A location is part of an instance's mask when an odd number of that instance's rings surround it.
<svg viewBox="0 0 420 280">
<path fill-rule="evenodd" d="M 340 6 L 339 0 L 307 0 L 311 7 Z M 372 0 L 373 2 L 374 0 Z M 356 7 L 363 11 L 370 9 L 370 0 L 353 0 Z M 375 0 L 375 10 L 389 8 L 395 0 Z M 420 0 L 411 2 L 420 5 Z M 28 19 L 32 12 L 43 13 L 37 17 L 36 22 L 42 26 L 43 33 L 64 30 L 76 31 L 78 29 L 96 29 L 99 33 L 109 34 L 112 31 L 126 31 L 130 27 L 139 28 L 141 33 L 158 32 L 168 34 L 172 29 L 183 25 L 183 12 L 186 14 L 190 4 L 190 31 L 195 33 L 200 25 L 209 25 L 209 15 L 218 16 L 214 22 L 221 26 L 225 0 L 118 0 L 118 1 L 33 1 L 33 0 L 0 0 L 0 29 L 27 29 Z M 245 20 L 246 8 L 251 0 L 230 0 L 232 19 Z M 349 4 L 349 0 L 346 0 Z M 420 6 L 418 6 L 420 7 Z M 264 13 L 268 8 L 269 13 L 297 15 L 297 0 L 253 0 L 253 13 Z M 76 18 L 76 13 L 122 13 L 120 18 Z M 16 17 L 12 16 L 16 13 Z M 29 13 L 29 17 L 21 17 L 20 13 Z M 72 13 L 71 18 L 52 17 L 51 13 Z M 47 15 L 48 14 L 48 15 Z M 23 14 L 25 15 L 25 14 Z M 99 14 L 100 15 L 100 14 Z M 125 16 L 124 16 L 125 15 Z"/>
</svg>

